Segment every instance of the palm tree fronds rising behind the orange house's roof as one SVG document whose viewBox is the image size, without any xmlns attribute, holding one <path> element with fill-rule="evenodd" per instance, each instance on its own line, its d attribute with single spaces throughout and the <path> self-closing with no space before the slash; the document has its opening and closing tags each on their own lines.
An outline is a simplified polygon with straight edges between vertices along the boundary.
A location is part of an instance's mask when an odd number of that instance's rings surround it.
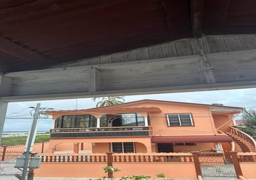
<svg viewBox="0 0 256 180">
<path fill-rule="evenodd" d="M 124 103 L 124 96 L 108 96 L 108 97 L 93 97 L 94 102 L 98 101 L 96 107 L 106 107 L 107 105 L 115 105 Z"/>
</svg>

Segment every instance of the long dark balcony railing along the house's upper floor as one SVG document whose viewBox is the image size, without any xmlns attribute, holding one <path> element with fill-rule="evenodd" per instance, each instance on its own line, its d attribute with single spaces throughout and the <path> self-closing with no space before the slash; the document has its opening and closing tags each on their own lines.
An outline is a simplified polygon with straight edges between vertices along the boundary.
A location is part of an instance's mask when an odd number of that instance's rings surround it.
<svg viewBox="0 0 256 180">
<path fill-rule="evenodd" d="M 60 137 L 103 137 L 103 136 L 150 136 L 152 127 L 100 127 L 100 128 L 61 128 L 51 129 L 51 138 Z"/>
</svg>

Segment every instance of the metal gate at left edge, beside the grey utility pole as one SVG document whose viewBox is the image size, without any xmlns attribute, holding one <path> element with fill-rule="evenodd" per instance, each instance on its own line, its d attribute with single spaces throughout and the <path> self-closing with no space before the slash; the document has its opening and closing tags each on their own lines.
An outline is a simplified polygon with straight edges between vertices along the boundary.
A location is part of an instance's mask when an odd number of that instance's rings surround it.
<svg viewBox="0 0 256 180">
<path fill-rule="evenodd" d="M 0 176 L 1 175 L 16 175 L 21 174 L 22 172 L 14 168 L 16 160 L 20 157 L 22 152 L 18 151 L 0 151 Z M 1 179 L 1 177 L 0 177 Z"/>
</svg>

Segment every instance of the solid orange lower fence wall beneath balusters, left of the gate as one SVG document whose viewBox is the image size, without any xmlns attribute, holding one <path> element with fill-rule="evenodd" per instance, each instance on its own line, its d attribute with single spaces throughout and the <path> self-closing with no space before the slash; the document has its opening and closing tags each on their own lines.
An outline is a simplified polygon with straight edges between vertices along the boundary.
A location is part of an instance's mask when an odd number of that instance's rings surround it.
<svg viewBox="0 0 256 180">
<path fill-rule="evenodd" d="M 99 178 L 107 176 L 103 167 L 107 163 L 51 163 L 43 162 L 39 169 L 35 169 L 35 177 L 81 177 L 81 178 Z M 196 178 L 194 163 L 113 163 L 114 168 L 121 171 L 114 173 L 114 177 L 131 175 L 147 175 L 152 178 L 159 173 L 164 173 L 167 178 Z M 143 168 L 142 168 L 143 167 Z M 186 169 L 186 170 L 184 170 Z"/>
</svg>

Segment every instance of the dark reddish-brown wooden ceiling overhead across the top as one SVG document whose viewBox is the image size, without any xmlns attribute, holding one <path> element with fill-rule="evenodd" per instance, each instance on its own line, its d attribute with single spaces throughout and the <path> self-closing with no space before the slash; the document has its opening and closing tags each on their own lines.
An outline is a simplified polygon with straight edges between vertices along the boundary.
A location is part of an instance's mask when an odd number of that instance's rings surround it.
<svg viewBox="0 0 256 180">
<path fill-rule="evenodd" d="M 0 72 L 175 39 L 255 34 L 254 0 L 1 0 Z"/>
</svg>

